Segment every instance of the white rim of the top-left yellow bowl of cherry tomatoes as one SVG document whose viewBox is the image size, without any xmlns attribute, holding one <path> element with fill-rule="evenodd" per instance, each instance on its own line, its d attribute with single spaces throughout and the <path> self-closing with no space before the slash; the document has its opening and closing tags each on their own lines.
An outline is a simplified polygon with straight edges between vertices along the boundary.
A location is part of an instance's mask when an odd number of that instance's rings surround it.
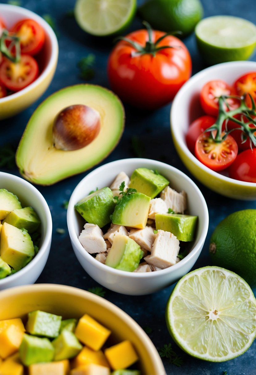
<svg viewBox="0 0 256 375">
<path fill-rule="evenodd" d="M 11 95 L 5 96 L 4 98 L 0 98 L 0 102 L 5 103 L 5 102 L 8 102 L 10 99 L 15 99 L 15 98 L 18 98 L 19 96 L 26 95 L 27 92 L 34 89 L 34 87 L 38 86 L 42 81 L 44 81 L 45 77 L 47 77 L 47 75 L 50 73 L 53 65 L 55 64 L 58 58 L 59 45 L 58 45 L 56 34 L 54 33 L 50 25 L 44 20 L 44 18 L 32 12 L 32 10 L 29 10 L 29 9 L 26 9 L 17 5 L 0 4 L 0 12 L 1 10 L 10 10 L 13 13 L 19 13 L 21 17 L 24 16 L 27 18 L 33 18 L 33 20 L 37 21 L 44 28 L 44 30 L 47 31 L 47 33 L 49 34 L 51 46 L 52 46 L 51 57 L 44 71 L 39 75 L 38 78 L 36 78 L 34 82 L 30 83 L 24 89 L 17 91 L 15 93 L 12 93 Z"/>
</svg>

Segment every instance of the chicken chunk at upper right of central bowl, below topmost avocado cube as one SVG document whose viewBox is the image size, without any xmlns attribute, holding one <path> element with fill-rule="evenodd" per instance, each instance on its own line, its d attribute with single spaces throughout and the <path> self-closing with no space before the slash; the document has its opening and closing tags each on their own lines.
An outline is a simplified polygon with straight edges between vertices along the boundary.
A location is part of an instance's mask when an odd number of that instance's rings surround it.
<svg viewBox="0 0 256 375">
<path fill-rule="evenodd" d="M 168 208 L 176 213 L 184 213 L 187 208 L 187 194 L 183 190 L 181 193 L 176 192 L 170 186 L 166 186 L 161 192 L 160 197 L 164 200 Z"/>
</svg>

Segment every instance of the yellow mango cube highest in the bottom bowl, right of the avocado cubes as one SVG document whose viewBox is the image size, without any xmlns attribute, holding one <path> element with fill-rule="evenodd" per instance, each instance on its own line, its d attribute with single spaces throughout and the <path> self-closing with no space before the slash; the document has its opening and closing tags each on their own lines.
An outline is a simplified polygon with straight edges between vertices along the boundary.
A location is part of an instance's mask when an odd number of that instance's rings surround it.
<svg viewBox="0 0 256 375">
<path fill-rule="evenodd" d="M 110 333 L 110 330 L 87 314 L 79 319 L 75 329 L 75 336 L 77 336 L 78 340 L 93 350 L 99 350 Z"/>
</svg>

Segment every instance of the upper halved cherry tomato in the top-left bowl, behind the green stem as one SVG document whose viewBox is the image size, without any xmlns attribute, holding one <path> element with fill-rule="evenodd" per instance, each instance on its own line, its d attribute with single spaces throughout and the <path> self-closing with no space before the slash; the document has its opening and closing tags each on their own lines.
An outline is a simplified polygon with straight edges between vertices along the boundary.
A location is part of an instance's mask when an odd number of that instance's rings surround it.
<svg viewBox="0 0 256 375">
<path fill-rule="evenodd" d="M 44 29 L 34 20 L 22 20 L 11 31 L 20 38 L 21 53 L 37 54 L 45 40 Z"/>
</svg>

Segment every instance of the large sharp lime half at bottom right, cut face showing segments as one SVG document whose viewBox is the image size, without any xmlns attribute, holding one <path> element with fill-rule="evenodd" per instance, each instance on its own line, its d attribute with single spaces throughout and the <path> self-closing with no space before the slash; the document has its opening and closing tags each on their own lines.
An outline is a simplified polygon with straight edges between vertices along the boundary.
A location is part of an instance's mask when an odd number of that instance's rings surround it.
<svg viewBox="0 0 256 375">
<path fill-rule="evenodd" d="M 224 362 L 252 344 L 256 299 L 240 276 L 221 267 L 203 267 L 185 275 L 173 289 L 166 323 L 186 353 Z"/>
</svg>

